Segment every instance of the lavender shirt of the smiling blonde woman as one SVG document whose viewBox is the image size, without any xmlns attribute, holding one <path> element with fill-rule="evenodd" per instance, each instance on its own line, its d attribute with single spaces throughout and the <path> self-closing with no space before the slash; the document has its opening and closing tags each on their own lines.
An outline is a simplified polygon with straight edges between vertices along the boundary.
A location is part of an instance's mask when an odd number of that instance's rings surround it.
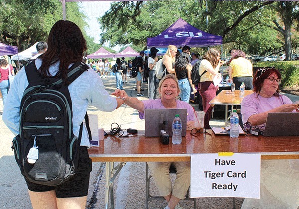
<svg viewBox="0 0 299 209">
<path fill-rule="evenodd" d="M 177 109 L 187 109 L 187 121 L 193 121 L 194 120 L 194 110 L 192 106 L 189 103 L 186 103 L 181 100 L 175 100 L 176 101 L 176 108 Z M 164 105 L 162 104 L 161 98 L 156 100 L 142 100 L 144 104 L 145 109 L 166 109 Z M 144 119 L 144 113 L 138 112 L 139 118 Z"/>
</svg>

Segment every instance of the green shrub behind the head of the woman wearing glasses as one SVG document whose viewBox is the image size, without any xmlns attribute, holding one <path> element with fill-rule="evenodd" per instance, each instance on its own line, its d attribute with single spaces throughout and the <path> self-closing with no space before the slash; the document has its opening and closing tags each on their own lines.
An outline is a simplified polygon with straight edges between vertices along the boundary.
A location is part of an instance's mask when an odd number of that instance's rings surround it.
<svg viewBox="0 0 299 209">
<path fill-rule="evenodd" d="M 282 87 L 299 87 L 299 61 L 274 61 L 254 63 L 254 67 L 271 66 L 279 69 Z"/>
</svg>

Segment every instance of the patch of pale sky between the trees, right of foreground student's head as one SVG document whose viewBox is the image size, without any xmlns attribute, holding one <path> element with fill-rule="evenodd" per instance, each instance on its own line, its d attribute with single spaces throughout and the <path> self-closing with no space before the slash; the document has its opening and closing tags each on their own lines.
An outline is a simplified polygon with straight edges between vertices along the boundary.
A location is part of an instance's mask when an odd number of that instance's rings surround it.
<svg viewBox="0 0 299 209">
<path fill-rule="evenodd" d="M 96 43 L 100 43 L 100 25 L 96 18 L 101 17 L 105 14 L 106 11 L 110 8 L 111 1 L 82 1 L 82 10 L 85 15 L 88 17 L 87 22 L 89 24 L 89 29 L 86 30 L 86 33 L 94 37 Z M 106 44 L 108 46 L 108 44 Z M 116 51 L 120 50 L 119 46 L 113 48 Z"/>
</svg>

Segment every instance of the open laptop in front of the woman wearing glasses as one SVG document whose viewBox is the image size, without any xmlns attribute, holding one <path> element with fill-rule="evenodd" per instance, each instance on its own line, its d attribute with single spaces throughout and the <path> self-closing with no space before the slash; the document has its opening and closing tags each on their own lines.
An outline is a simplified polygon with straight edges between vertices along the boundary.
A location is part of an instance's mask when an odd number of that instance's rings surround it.
<svg viewBox="0 0 299 209">
<path fill-rule="evenodd" d="M 264 136 L 299 136 L 299 113 L 268 113 Z"/>
</svg>

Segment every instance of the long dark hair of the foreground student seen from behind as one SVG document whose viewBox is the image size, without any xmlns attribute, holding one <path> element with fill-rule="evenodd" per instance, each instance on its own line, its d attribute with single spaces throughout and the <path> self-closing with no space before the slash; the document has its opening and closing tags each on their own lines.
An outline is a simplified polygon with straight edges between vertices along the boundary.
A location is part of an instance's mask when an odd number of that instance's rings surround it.
<svg viewBox="0 0 299 209">
<path fill-rule="evenodd" d="M 68 20 L 56 22 L 48 37 L 48 50 L 40 56 L 42 59 L 39 73 L 44 77 L 51 77 L 49 68 L 60 61 L 57 77 L 66 78 L 68 66 L 80 62 L 86 54 L 86 40 L 80 28 Z"/>
</svg>

